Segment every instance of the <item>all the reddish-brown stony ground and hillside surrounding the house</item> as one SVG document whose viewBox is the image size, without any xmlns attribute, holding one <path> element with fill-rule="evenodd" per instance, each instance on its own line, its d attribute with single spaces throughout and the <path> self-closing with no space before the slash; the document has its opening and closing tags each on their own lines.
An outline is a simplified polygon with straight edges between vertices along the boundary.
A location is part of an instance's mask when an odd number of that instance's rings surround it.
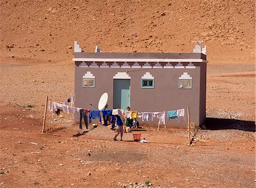
<svg viewBox="0 0 256 188">
<path fill-rule="evenodd" d="M 255 187 L 255 2 L 1 1 L 0 187 Z M 207 45 L 207 129 L 110 127 L 72 116 L 40 134 L 46 96 L 74 93 L 73 42 L 93 52 L 192 52 Z M 142 125 L 143 126 L 143 125 Z M 149 143 L 135 143 L 133 133 Z M 118 138 L 119 139 L 119 138 Z"/>
</svg>

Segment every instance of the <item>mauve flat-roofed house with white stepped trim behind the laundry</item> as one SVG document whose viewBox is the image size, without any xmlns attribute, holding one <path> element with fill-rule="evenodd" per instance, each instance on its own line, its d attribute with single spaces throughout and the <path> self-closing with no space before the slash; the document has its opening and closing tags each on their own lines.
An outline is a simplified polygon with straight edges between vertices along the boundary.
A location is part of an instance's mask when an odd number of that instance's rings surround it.
<svg viewBox="0 0 256 188">
<path fill-rule="evenodd" d="M 108 109 L 127 106 L 138 112 L 160 112 L 187 107 L 191 122 L 205 121 L 206 47 L 193 53 L 82 52 L 75 41 L 76 107 L 98 110 L 98 99 L 108 93 Z M 75 122 L 79 113 L 75 114 Z M 156 126 L 158 120 L 141 122 Z M 187 127 L 183 118 L 166 118 L 168 127 Z"/>
</svg>

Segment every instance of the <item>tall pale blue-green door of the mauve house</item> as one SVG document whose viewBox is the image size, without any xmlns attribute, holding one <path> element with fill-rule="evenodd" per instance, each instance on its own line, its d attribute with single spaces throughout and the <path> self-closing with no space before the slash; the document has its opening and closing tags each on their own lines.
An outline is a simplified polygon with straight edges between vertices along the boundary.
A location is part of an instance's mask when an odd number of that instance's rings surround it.
<svg viewBox="0 0 256 188">
<path fill-rule="evenodd" d="M 130 80 L 114 79 L 114 108 L 130 106 Z"/>
</svg>

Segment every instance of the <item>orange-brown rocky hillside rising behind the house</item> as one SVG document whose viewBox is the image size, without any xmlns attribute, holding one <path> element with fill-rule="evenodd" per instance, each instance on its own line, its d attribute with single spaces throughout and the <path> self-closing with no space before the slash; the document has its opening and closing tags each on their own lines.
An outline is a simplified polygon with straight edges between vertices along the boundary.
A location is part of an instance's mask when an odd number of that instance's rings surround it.
<svg viewBox="0 0 256 188">
<path fill-rule="evenodd" d="M 208 60 L 254 61 L 255 2 L 1 1 L 0 56 L 72 62 L 73 42 L 84 51 L 192 52 Z"/>
</svg>

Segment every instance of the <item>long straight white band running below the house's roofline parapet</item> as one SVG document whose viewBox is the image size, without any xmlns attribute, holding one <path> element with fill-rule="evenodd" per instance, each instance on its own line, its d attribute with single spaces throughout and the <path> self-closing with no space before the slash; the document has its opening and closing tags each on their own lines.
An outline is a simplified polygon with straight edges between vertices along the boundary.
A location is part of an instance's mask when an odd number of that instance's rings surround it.
<svg viewBox="0 0 256 188">
<path fill-rule="evenodd" d="M 106 59 L 106 58 L 73 58 L 73 61 L 106 61 L 106 62 L 208 62 L 202 59 Z"/>
</svg>

